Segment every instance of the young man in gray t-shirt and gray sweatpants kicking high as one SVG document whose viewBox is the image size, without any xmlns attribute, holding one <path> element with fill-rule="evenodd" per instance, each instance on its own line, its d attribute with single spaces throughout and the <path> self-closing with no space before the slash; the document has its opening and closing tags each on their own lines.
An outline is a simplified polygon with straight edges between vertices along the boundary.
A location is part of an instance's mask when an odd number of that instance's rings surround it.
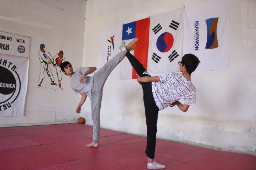
<svg viewBox="0 0 256 170">
<path fill-rule="evenodd" d="M 127 47 L 132 49 L 134 43 L 138 39 L 132 40 Z M 92 122 L 93 122 L 93 136 L 92 143 L 87 144 L 87 147 L 99 146 L 100 135 L 100 107 L 102 102 L 103 86 L 111 71 L 119 64 L 125 57 L 125 54 L 120 51 L 109 62 L 105 63 L 92 77 L 87 76 L 96 70 L 96 67 L 80 67 L 75 72 L 69 62 L 63 62 L 60 66 L 61 71 L 71 78 L 70 86 L 75 93 L 82 95 L 81 100 L 76 108 L 76 112 L 81 112 L 81 107 L 85 102 L 87 96 L 91 101 Z"/>
</svg>

